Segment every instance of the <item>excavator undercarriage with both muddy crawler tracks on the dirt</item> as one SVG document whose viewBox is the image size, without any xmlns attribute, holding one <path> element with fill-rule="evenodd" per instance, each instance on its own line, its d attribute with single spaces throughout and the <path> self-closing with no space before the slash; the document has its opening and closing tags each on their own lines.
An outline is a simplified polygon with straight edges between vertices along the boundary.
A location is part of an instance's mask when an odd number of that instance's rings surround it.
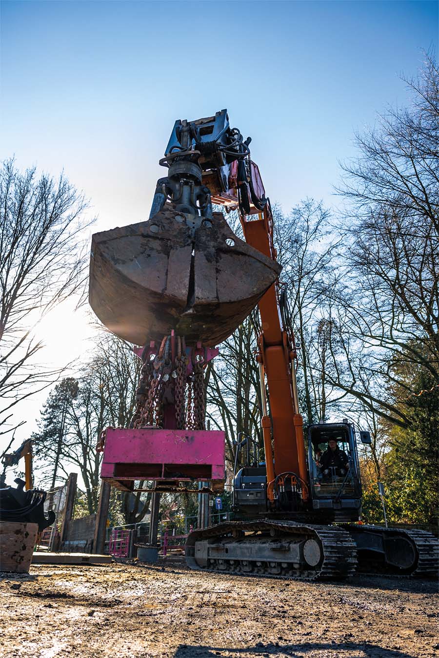
<svg viewBox="0 0 439 658">
<path fill-rule="evenodd" d="M 238 521 L 191 532 L 186 563 L 191 569 L 305 580 L 344 580 L 355 571 L 430 576 L 438 571 L 438 540 L 423 530 Z"/>
</svg>

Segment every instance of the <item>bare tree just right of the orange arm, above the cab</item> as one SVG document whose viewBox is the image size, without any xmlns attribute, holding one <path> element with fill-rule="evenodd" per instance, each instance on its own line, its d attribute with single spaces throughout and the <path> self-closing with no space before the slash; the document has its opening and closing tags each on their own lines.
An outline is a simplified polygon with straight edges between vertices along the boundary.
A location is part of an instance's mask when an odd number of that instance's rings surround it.
<svg viewBox="0 0 439 658">
<path fill-rule="evenodd" d="M 289 215 L 274 210 L 274 241 L 297 342 L 299 397 L 303 416 L 311 423 L 325 418 L 342 397 L 325 374 L 332 333 L 326 316 L 332 288 L 338 284 L 335 257 L 340 238 L 334 235 L 323 204 L 305 199 Z"/>
</svg>

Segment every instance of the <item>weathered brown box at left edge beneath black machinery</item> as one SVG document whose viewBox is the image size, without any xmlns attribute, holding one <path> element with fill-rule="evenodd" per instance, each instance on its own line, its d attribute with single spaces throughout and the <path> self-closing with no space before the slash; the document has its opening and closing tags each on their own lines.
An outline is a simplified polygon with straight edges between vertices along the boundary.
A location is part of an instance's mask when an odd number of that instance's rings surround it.
<svg viewBox="0 0 439 658">
<path fill-rule="evenodd" d="M 36 523 L 0 522 L 0 571 L 29 571 L 37 532 Z"/>
</svg>

